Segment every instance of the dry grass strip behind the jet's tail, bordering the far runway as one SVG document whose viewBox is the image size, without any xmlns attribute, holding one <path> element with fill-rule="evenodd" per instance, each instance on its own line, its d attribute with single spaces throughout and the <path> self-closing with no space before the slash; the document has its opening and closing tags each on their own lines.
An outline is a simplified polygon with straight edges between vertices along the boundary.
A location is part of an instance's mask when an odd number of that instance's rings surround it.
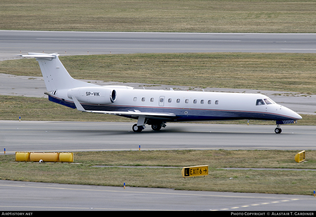
<svg viewBox="0 0 316 217">
<path fill-rule="evenodd" d="M 138 53 L 60 60 L 76 79 L 316 93 L 315 53 Z M 1 61 L 0 73 L 42 76 L 35 59 Z"/>
</svg>

